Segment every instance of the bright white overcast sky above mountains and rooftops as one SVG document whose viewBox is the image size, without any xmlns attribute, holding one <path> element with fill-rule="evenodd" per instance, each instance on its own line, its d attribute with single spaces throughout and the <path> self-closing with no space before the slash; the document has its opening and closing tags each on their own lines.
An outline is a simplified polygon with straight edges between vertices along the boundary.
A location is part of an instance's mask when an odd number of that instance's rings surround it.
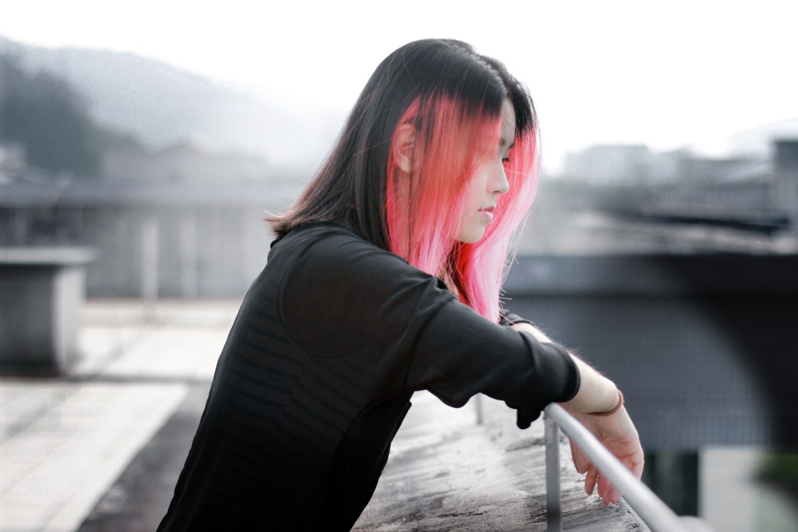
<svg viewBox="0 0 798 532">
<path fill-rule="evenodd" d="M 530 88 L 543 159 L 691 147 L 798 118 L 798 2 L 5 2 L 0 35 L 132 52 L 308 106 L 350 108 L 385 55 L 455 37 Z"/>
</svg>

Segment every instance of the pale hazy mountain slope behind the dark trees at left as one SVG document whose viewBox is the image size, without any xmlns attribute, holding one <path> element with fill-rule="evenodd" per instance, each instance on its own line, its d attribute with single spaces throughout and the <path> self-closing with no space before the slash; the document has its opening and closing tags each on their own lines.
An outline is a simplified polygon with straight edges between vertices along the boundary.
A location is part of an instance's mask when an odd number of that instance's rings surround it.
<svg viewBox="0 0 798 532">
<path fill-rule="evenodd" d="M 47 49 L 0 37 L 0 53 L 23 68 L 65 78 L 89 99 L 98 124 L 140 137 L 150 148 L 191 143 L 245 152 L 271 164 L 312 169 L 330 148 L 342 116 L 286 109 L 264 97 L 130 53 Z"/>
</svg>

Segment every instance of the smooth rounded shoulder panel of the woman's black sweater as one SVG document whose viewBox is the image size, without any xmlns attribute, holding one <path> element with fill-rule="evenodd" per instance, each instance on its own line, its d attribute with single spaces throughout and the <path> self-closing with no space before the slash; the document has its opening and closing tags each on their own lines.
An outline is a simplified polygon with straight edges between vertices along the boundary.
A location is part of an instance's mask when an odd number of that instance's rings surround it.
<svg viewBox="0 0 798 532">
<path fill-rule="evenodd" d="M 385 348 L 454 296 L 440 278 L 335 224 L 302 229 L 280 306 L 294 340 L 314 356 Z M 275 246 L 276 249 L 278 246 Z"/>
</svg>

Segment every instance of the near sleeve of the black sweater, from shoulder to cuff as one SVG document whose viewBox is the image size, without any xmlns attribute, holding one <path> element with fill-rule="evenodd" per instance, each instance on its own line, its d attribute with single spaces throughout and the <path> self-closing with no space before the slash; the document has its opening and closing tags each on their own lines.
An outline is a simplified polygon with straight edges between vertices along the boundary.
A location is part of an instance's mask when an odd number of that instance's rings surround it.
<svg viewBox="0 0 798 532">
<path fill-rule="evenodd" d="M 575 395 L 579 373 L 563 347 L 488 321 L 439 278 L 346 230 L 326 233 L 285 290 L 286 322 L 309 353 L 369 353 L 385 383 L 377 394 L 426 389 L 454 407 L 482 392 L 534 419 Z"/>
</svg>

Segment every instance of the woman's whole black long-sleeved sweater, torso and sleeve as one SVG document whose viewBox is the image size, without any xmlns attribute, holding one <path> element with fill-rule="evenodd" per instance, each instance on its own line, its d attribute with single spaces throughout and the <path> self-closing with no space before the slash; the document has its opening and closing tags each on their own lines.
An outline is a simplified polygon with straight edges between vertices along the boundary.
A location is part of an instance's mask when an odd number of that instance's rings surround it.
<svg viewBox="0 0 798 532">
<path fill-rule="evenodd" d="M 334 223 L 271 249 L 227 338 L 158 530 L 350 530 L 416 390 L 534 419 L 571 399 L 559 345 L 491 323 Z"/>
</svg>

